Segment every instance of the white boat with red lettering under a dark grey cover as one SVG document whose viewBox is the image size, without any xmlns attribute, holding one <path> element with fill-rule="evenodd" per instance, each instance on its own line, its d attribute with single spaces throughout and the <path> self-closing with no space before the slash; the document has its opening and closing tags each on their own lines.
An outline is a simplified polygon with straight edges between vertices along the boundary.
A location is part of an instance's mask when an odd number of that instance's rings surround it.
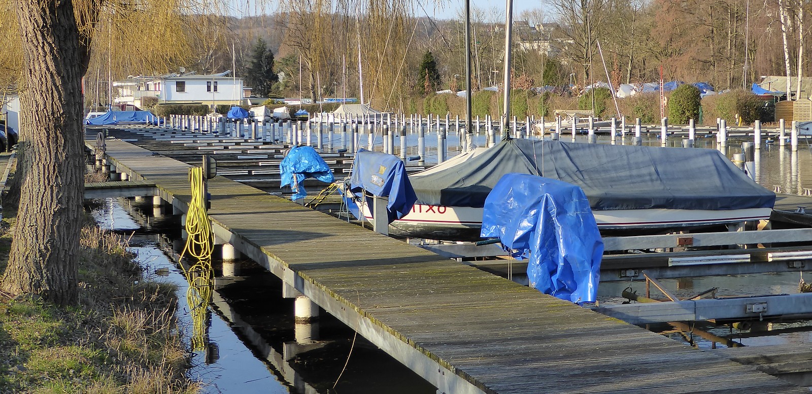
<svg viewBox="0 0 812 394">
<path fill-rule="evenodd" d="M 775 193 L 713 149 L 512 139 L 409 175 L 417 203 L 394 236 L 477 240 L 482 206 L 502 175 L 580 186 L 604 234 L 648 234 L 768 219 Z M 372 219 L 362 201 L 356 204 Z"/>
</svg>

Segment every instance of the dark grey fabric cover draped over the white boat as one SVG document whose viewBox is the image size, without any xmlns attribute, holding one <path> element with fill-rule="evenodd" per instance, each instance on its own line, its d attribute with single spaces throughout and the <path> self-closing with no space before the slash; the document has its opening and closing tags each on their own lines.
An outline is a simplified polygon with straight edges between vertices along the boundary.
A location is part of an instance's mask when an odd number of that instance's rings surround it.
<svg viewBox="0 0 812 394">
<path fill-rule="evenodd" d="M 417 203 L 482 207 L 503 175 L 581 187 L 593 210 L 771 208 L 775 193 L 714 149 L 512 139 L 442 171 L 409 177 Z"/>
</svg>

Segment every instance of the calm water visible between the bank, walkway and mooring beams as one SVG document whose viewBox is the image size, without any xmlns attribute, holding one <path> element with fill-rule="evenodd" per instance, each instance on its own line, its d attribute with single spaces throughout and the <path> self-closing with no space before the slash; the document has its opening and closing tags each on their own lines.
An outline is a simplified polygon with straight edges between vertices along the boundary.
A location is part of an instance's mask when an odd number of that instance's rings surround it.
<svg viewBox="0 0 812 394">
<path fill-rule="evenodd" d="M 400 146 L 395 137 L 395 146 Z M 571 141 L 565 136 L 564 141 Z M 335 136 L 340 148 L 340 135 Z M 577 136 L 584 141 L 585 136 Z M 598 136 L 600 143 L 608 143 L 609 136 Z M 365 142 L 365 136 L 361 138 Z M 381 137 L 378 136 L 378 146 Z M 457 153 L 459 136 L 449 136 L 449 154 Z M 409 154 L 417 154 L 417 136 L 407 136 Z M 679 144 L 678 139 L 670 141 Z M 436 136 L 426 136 L 426 146 L 434 147 L 427 161 L 436 162 Z M 476 138 L 477 145 L 485 144 L 485 136 Z M 619 141 L 620 143 L 620 141 Z M 628 143 L 628 142 L 627 142 Z M 643 136 L 646 145 L 659 145 L 654 135 Z M 698 147 L 715 148 L 713 138 L 699 138 Z M 738 153 L 741 141 L 731 141 L 728 157 Z M 431 150 L 430 150 L 431 151 Z M 431 156 L 430 156 L 431 155 Z M 434 159 L 432 160 L 431 157 Z M 767 145 L 756 156 L 757 180 L 769 189 L 778 186 L 782 193 L 801 193 L 812 187 L 812 153 L 809 145 L 801 141 L 798 152 L 787 147 Z M 696 176 L 701 176 L 697 174 Z M 149 201 L 149 200 L 148 200 Z M 151 201 L 150 201 L 151 202 Z M 163 212 L 155 212 L 150 203 L 140 204 L 127 199 L 108 199 L 93 210 L 102 227 L 132 234 L 132 251 L 146 267 L 148 273 L 165 269 L 161 280 L 178 284 L 180 308 L 178 316 L 191 338 L 196 335 L 187 299 L 188 283 L 180 266 L 175 262 L 182 249 L 179 240 L 179 220 Z M 158 216 L 158 217 L 156 217 Z M 215 262 L 215 276 L 222 275 L 222 264 Z M 719 295 L 764 295 L 797 292 L 800 275 L 797 273 L 733 275 L 686 279 L 663 279 L 662 282 L 677 295 L 689 296 L 709 288 L 719 288 Z M 812 275 L 806 275 L 812 282 Z M 602 283 L 598 296 L 602 302 L 620 302 L 620 292 L 631 287 L 638 294 L 645 293 L 643 282 Z M 361 337 L 353 346 L 353 332 L 328 314 L 321 314 L 320 339 L 326 343 L 322 349 L 312 350 L 297 357 L 283 360 L 283 344 L 295 341 L 293 301 L 281 297 L 281 282 L 252 262 L 240 263 L 234 277 L 218 279 L 214 284 L 212 302 L 205 313 L 204 349 L 193 353 L 189 375 L 207 383 L 206 392 L 403 392 L 434 393 L 436 389 L 399 362 L 377 349 Z M 774 323 L 753 330 L 730 327 L 702 327 L 715 336 L 736 340 L 748 346 L 771 344 L 812 343 L 812 323 Z M 670 327 L 650 327 L 654 331 L 668 331 Z M 667 334 L 674 340 L 711 348 L 711 341 L 698 336 L 684 336 L 676 332 Z M 716 344 L 722 347 L 722 344 Z M 338 384 L 352 347 L 347 369 Z M 335 388 L 333 386 L 335 385 Z"/>
</svg>

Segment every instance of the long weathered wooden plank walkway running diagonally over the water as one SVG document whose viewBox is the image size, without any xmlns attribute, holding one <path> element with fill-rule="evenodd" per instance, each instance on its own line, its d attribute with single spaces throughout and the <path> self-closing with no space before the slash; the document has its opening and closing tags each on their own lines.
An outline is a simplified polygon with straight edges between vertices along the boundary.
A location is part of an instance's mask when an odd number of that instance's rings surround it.
<svg viewBox="0 0 812 394">
<path fill-rule="evenodd" d="M 118 171 L 185 210 L 188 165 L 107 141 Z M 214 232 L 439 392 L 808 392 L 222 176 Z"/>
</svg>

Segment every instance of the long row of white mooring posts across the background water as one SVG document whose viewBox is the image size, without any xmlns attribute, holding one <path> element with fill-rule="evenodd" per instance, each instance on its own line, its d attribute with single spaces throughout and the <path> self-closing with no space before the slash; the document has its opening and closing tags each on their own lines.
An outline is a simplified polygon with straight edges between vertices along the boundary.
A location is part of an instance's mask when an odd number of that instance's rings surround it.
<svg viewBox="0 0 812 394">
<path fill-rule="evenodd" d="M 237 138 L 252 138 L 262 141 L 287 141 L 293 145 L 312 145 L 317 149 L 325 149 L 327 152 L 333 152 L 335 149 L 344 149 L 353 152 L 356 148 L 365 147 L 372 150 L 375 145 L 375 137 L 382 136 L 382 151 L 387 154 L 395 154 L 395 136 L 400 136 L 400 158 L 404 160 L 419 160 L 420 164 L 425 163 L 425 138 L 432 134 L 437 136 L 437 152 L 438 162 L 444 162 L 448 158 L 448 138 L 451 130 L 456 130 L 456 135 L 459 137 L 460 150 L 466 148 L 465 143 L 465 128 L 464 121 L 460 122 L 460 117 L 456 116 L 451 119 L 450 115 L 446 115 L 443 119 L 441 116 L 428 115 L 409 115 L 404 114 L 382 114 L 378 116 L 360 116 L 360 115 L 334 115 L 329 116 L 328 119 L 309 119 L 307 121 L 292 121 L 284 120 L 279 122 L 257 122 L 253 119 L 232 121 L 226 118 L 210 118 L 198 115 L 170 115 L 168 118 L 162 119 L 167 126 L 180 130 L 198 131 L 198 132 L 211 132 L 217 133 L 222 136 L 233 136 Z M 322 122 L 326 120 L 329 122 Z M 335 121 L 335 123 L 333 123 Z M 543 136 L 545 130 L 545 119 L 542 116 L 538 122 L 532 116 L 525 117 L 524 124 L 519 123 L 516 116 L 513 116 L 510 123 L 509 134 L 514 138 L 534 138 Z M 472 119 L 472 127 L 476 135 L 484 132 L 486 135 L 486 145 L 494 145 L 499 141 L 501 130 L 499 130 L 499 122 L 494 122 L 490 116 L 481 119 L 477 116 Z M 620 123 L 620 124 L 619 124 Z M 719 119 L 718 127 L 716 129 L 716 141 L 719 148 L 726 149 L 728 146 L 728 126 L 724 119 Z M 533 130 L 533 125 L 536 125 L 537 130 Z M 620 126 L 620 134 L 618 127 Z M 626 118 L 620 117 L 618 119 L 611 118 L 611 144 L 616 143 L 616 137 L 620 136 L 621 141 L 626 141 L 627 133 L 633 132 L 631 136 L 632 145 L 642 145 L 641 139 L 641 120 L 635 119 L 632 127 L 627 127 Z M 561 117 L 556 117 L 554 130 L 551 128 L 550 134 L 553 140 L 558 140 L 564 134 L 564 128 Z M 573 119 L 570 132 L 572 133 L 572 141 L 575 141 L 577 135 L 577 118 Z M 594 118 L 588 118 L 588 135 L 587 141 L 589 143 L 596 143 L 597 136 L 594 125 Z M 683 147 L 693 147 L 695 141 L 696 127 L 693 119 L 690 120 L 688 126 L 688 138 L 683 139 Z M 406 145 L 405 136 L 407 133 L 417 134 L 417 156 L 408 157 L 408 146 Z M 325 136 L 326 134 L 326 136 Z M 366 141 L 361 141 L 361 136 L 367 135 Z M 337 145 L 334 136 L 339 135 L 340 147 Z M 784 119 L 780 119 L 779 126 L 779 145 L 786 145 L 787 130 L 785 128 Z M 790 145 L 793 151 L 797 151 L 798 145 L 798 131 L 797 123 L 793 122 L 789 132 Z M 315 137 L 315 141 L 313 138 Z M 364 143 L 365 142 L 365 143 Z M 663 118 L 660 125 L 660 144 L 667 146 L 668 142 L 668 119 Z M 380 143 L 380 142 L 378 142 Z M 366 146 L 364 146 L 366 145 Z M 762 145 L 762 130 L 761 124 L 756 121 L 754 124 L 754 149 L 760 149 Z"/>
</svg>

